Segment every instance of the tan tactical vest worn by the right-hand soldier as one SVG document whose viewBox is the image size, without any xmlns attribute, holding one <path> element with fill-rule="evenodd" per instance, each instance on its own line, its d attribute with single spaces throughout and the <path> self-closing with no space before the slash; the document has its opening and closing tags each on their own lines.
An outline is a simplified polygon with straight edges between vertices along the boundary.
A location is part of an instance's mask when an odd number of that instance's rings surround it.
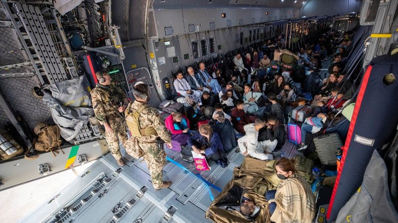
<svg viewBox="0 0 398 223">
<path fill-rule="evenodd" d="M 156 134 L 156 130 L 152 127 L 146 127 L 146 128 L 141 128 L 139 117 L 142 111 L 145 109 L 149 108 L 150 106 L 148 104 L 144 104 L 139 107 L 138 110 L 130 112 L 131 105 L 133 103 L 130 103 L 130 105 L 127 108 L 127 113 L 126 113 L 126 123 L 127 127 L 131 132 L 131 135 L 134 137 L 142 137 L 145 135 L 154 135 Z"/>
</svg>

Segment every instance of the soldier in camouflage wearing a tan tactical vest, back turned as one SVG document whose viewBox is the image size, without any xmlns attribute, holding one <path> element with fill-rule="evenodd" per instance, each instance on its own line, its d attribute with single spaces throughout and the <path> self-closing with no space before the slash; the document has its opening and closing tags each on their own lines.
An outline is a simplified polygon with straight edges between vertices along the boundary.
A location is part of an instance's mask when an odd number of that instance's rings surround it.
<svg viewBox="0 0 398 223">
<path fill-rule="evenodd" d="M 153 187 L 155 189 L 168 188 L 171 182 L 163 181 L 166 153 L 163 146 L 157 144 L 157 139 L 160 137 L 168 148 L 172 148 L 171 135 L 167 131 L 164 122 L 160 119 L 159 111 L 147 104 L 149 100 L 148 93 L 148 85 L 143 82 L 139 81 L 134 85 L 133 95 L 135 101 L 130 103 L 125 111 L 126 122 L 132 134 L 129 141 L 136 140 L 136 143 L 132 144 L 137 145 L 138 150 L 141 152 L 138 156 L 142 156 L 148 165 Z M 131 154 L 130 149 L 126 151 L 134 157 L 136 154 Z"/>
</svg>

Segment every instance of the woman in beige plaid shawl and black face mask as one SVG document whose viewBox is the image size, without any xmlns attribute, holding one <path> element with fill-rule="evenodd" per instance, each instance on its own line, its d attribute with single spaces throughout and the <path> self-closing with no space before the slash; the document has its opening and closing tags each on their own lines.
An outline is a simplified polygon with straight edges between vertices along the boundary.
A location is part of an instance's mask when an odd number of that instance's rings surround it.
<svg viewBox="0 0 398 223">
<path fill-rule="evenodd" d="M 275 162 L 281 182 L 277 190 L 267 191 L 271 221 L 275 223 L 311 223 L 315 216 L 315 196 L 310 185 L 298 173 L 295 161 L 281 158 Z"/>
</svg>

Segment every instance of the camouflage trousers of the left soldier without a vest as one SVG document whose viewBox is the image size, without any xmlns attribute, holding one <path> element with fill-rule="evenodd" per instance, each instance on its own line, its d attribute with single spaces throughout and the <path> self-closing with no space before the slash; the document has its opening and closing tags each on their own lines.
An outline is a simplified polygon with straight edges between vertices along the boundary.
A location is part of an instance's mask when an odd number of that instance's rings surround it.
<svg viewBox="0 0 398 223">
<path fill-rule="evenodd" d="M 126 133 L 126 125 L 124 124 L 125 121 L 121 117 L 112 117 L 108 118 L 108 124 L 112 128 L 113 132 L 106 132 L 106 143 L 108 144 L 108 149 L 112 156 L 119 160 L 121 159 L 120 147 L 119 147 L 119 140 L 126 147 L 127 141 L 127 133 Z"/>
</svg>

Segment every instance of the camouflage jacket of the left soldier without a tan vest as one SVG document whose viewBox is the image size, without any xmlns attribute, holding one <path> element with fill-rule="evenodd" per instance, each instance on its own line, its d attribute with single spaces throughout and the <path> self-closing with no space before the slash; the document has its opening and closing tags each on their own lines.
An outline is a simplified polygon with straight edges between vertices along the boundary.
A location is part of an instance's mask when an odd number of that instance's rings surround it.
<svg viewBox="0 0 398 223">
<path fill-rule="evenodd" d="M 120 107 L 120 103 L 127 104 L 124 92 L 113 84 L 108 88 L 101 88 L 97 85 L 90 94 L 96 118 L 102 123 L 107 123 L 108 118 L 119 115 L 117 109 Z"/>
</svg>

